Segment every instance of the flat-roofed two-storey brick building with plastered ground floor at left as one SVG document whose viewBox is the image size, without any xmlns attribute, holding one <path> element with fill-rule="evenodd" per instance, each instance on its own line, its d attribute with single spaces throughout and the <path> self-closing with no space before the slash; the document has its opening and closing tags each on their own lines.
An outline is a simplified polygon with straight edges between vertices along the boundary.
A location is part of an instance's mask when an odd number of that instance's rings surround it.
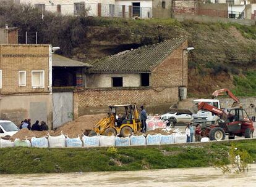
<svg viewBox="0 0 256 187">
<path fill-rule="evenodd" d="M 38 119 L 51 127 L 51 46 L 0 44 L 0 95 L 1 119 Z"/>
</svg>

